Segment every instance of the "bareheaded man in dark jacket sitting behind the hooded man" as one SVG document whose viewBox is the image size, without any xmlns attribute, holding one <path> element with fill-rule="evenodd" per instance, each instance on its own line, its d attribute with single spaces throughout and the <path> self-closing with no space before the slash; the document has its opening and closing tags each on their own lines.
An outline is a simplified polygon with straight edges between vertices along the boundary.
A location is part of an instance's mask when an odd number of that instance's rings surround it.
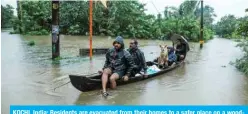
<svg viewBox="0 0 248 114">
<path fill-rule="evenodd" d="M 138 48 L 138 41 L 132 39 L 129 44 L 129 49 L 127 51 L 132 55 L 135 67 L 133 68 L 130 76 L 135 76 L 144 71 L 144 77 L 147 78 L 147 65 L 144 53 Z"/>
</svg>

